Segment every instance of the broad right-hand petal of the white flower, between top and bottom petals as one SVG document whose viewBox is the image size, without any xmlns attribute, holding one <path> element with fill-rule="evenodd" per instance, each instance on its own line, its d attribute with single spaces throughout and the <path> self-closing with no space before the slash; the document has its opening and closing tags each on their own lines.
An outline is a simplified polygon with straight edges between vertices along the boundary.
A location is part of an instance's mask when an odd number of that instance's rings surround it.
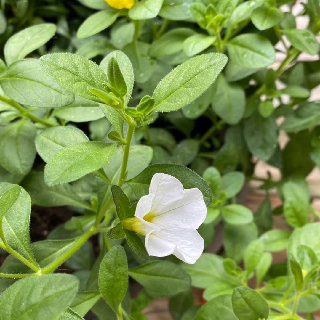
<svg viewBox="0 0 320 320">
<path fill-rule="evenodd" d="M 207 207 L 201 191 L 193 188 L 184 190 L 183 199 L 152 213 L 155 217 L 150 222 L 161 229 L 197 229 L 206 218 Z"/>
</svg>

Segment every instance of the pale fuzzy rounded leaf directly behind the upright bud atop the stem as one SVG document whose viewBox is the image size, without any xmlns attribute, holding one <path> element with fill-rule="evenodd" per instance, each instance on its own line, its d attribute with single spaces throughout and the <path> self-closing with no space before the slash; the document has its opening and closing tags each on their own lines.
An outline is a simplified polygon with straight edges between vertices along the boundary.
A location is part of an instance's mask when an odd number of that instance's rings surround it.
<svg viewBox="0 0 320 320">
<path fill-rule="evenodd" d="M 122 51 L 120 51 L 120 50 L 112 51 L 100 63 L 100 68 L 105 72 L 105 74 L 108 73 L 108 64 L 109 64 L 109 61 L 111 60 L 111 58 L 116 58 L 118 65 L 119 65 L 119 68 L 120 68 L 120 71 L 121 71 L 123 78 L 126 82 L 128 96 L 125 97 L 125 101 L 127 102 L 130 98 L 129 95 L 132 93 L 133 83 L 134 83 L 134 74 L 133 74 L 132 63 L 131 63 L 130 59 L 127 57 L 127 55 L 124 54 Z M 131 58 L 131 56 L 130 56 L 130 58 Z M 115 130 L 117 130 L 118 132 L 120 132 L 117 128 L 115 128 L 115 127 L 113 127 L 113 128 Z"/>
</svg>

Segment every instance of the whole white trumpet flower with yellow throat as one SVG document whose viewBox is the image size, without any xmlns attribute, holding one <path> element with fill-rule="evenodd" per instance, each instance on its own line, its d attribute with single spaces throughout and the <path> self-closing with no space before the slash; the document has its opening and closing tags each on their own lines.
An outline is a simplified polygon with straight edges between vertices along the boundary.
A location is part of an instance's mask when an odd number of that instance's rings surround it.
<svg viewBox="0 0 320 320">
<path fill-rule="evenodd" d="M 196 231 L 207 214 L 201 191 L 184 189 L 175 177 L 156 173 L 152 177 L 149 195 L 141 197 L 135 217 L 124 224 L 145 235 L 145 247 L 152 256 L 174 254 L 193 264 L 200 257 L 204 242 Z"/>
</svg>

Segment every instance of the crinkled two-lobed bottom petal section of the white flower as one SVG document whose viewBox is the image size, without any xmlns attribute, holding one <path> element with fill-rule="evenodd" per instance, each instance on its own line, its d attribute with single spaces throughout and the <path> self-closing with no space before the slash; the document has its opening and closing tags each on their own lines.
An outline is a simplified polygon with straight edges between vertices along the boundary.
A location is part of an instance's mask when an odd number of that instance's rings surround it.
<svg viewBox="0 0 320 320">
<path fill-rule="evenodd" d="M 193 264 L 201 256 L 204 242 L 194 229 L 153 230 L 145 238 L 145 246 L 150 255 L 164 257 L 173 253 L 180 260 Z"/>
</svg>

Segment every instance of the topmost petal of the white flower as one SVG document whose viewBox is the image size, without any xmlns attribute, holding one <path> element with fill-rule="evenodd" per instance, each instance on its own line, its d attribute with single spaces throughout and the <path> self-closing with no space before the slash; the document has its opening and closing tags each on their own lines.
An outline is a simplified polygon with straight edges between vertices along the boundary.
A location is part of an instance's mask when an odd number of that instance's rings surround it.
<svg viewBox="0 0 320 320">
<path fill-rule="evenodd" d="M 173 176 L 165 173 L 153 175 L 149 193 L 154 195 L 151 212 L 158 212 L 163 207 L 183 198 L 183 185 Z"/>
</svg>

